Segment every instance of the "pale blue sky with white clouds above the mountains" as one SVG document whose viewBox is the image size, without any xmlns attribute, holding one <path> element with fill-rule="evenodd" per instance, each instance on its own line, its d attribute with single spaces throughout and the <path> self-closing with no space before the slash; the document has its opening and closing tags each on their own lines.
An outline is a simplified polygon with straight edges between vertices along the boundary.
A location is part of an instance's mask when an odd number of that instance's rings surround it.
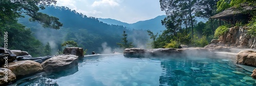
<svg viewBox="0 0 256 86">
<path fill-rule="evenodd" d="M 57 6 L 66 6 L 87 16 L 112 18 L 125 23 L 164 15 L 159 0 L 56 0 Z"/>
</svg>

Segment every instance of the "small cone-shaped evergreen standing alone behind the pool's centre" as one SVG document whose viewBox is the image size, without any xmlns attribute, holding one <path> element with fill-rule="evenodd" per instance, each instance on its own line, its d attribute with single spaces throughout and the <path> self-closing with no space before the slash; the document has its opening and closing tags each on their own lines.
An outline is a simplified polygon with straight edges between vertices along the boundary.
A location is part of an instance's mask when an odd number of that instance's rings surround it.
<svg viewBox="0 0 256 86">
<path fill-rule="evenodd" d="M 121 48 L 132 48 L 133 47 L 133 42 L 128 42 L 127 40 L 127 34 L 125 33 L 125 31 L 123 31 L 123 38 L 122 38 L 122 41 L 123 44 L 121 43 L 117 43 L 117 45 L 119 45 Z"/>
</svg>

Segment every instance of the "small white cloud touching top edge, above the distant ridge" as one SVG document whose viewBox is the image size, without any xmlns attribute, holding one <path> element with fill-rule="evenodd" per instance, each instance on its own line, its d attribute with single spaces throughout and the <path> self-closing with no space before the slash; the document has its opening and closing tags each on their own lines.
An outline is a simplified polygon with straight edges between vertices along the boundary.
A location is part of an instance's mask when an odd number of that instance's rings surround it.
<svg viewBox="0 0 256 86">
<path fill-rule="evenodd" d="M 101 1 L 95 1 L 92 4 L 93 7 L 97 7 L 97 6 L 111 6 L 111 7 L 115 7 L 115 6 L 119 6 L 119 4 L 113 0 L 101 0 Z"/>
</svg>

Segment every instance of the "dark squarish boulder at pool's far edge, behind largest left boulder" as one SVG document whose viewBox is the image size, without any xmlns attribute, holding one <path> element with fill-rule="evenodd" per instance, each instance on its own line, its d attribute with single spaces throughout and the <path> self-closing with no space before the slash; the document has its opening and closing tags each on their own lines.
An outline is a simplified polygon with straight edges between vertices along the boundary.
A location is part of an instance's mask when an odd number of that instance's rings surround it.
<svg viewBox="0 0 256 86">
<path fill-rule="evenodd" d="M 83 49 L 78 47 L 67 47 L 63 50 L 63 54 L 83 56 Z"/>
</svg>

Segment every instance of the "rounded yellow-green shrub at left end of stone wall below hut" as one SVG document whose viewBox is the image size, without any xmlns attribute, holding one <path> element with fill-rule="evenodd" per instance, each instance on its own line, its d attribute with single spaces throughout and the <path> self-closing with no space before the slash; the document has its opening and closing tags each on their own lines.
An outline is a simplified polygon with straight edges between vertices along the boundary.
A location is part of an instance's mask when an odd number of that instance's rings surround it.
<svg viewBox="0 0 256 86">
<path fill-rule="evenodd" d="M 228 32 L 228 28 L 226 26 L 219 26 L 214 33 L 214 36 L 219 37 L 221 35 L 224 35 L 225 33 Z"/>
</svg>

